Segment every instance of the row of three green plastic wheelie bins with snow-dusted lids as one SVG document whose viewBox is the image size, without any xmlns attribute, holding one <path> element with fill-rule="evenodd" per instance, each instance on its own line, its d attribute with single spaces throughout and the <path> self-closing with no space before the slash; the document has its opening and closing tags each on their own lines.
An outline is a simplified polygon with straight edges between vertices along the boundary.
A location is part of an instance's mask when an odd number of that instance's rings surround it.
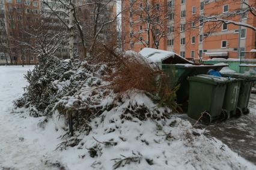
<svg viewBox="0 0 256 170">
<path fill-rule="evenodd" d="M 188 116 L 204 124 L 248 114 L 251 88 L 256 78 L 235 74 L 189 77 Z"/>
</svg>

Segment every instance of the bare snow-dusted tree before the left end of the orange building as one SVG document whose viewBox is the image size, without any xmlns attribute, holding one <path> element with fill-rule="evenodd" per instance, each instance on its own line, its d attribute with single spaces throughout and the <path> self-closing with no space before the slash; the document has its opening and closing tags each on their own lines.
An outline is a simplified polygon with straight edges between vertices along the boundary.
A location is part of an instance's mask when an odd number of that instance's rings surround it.
<svg viewBox="0 0 256 170">
<path fill-rule="evenodd" d="M 130 7 L 130 17 L 137 19 L 130 23 L 137 28 L 130 32 L 130 38 L 144 47 L 159 48 L 160 41 L 167 35 L 165 26 L 171 14 L 172 8 L 161 1 L 137 1 Z"/>
</svg>

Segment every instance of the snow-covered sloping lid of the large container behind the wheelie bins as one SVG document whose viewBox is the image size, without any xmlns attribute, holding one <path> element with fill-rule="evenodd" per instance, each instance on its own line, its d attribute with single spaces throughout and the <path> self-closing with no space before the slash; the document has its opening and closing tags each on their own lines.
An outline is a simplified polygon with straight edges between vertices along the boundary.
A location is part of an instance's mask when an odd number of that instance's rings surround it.
<svg viewBox="0 0 256 170">
<path fill-rule="evenodd" d="M 165 50 L 158 50 L 155 48 L 143 48 L 141 51 L 139 51 L 139 54 L 146 57 L 150 62 L 162 62 L 165 59 L 168 59 L 169 57 L 180 57 L 182 60 L 186 60 L 187 63 L 192 63 L 189 60 L 185 59 L 184 57 L 181 57 L 180 55 L 172 52 L 172 51 L 165 51 Z"/>
</svg>

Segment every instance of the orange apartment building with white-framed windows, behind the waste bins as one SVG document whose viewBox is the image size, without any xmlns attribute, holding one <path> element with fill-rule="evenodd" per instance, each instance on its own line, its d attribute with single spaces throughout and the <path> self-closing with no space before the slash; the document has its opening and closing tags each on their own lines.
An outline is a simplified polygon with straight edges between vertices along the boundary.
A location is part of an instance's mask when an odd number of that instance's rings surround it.
<svg viewBox="0 0 256 170">
<path fill-rule="evenodd" d="M 254 0 L 245 2 L 256 6 Z M 122 16 L 123 49 L 139 51 L 144 47 L 153 47 L 193 59 L 243 57 L 244 51 L 255 48 L 255 31 L 243 26 L 212 22 L 209 17 L 256 27 L 256 17 L 248 11 L 246 4 L 241 5 L 238 0 L 123 1 L 123 9 L 130 7 Z M 149 18 L 148 13 L 152 13 Z M 153 40 L 159 34 L 162 37 Z M 148 40 L 150 42 L 145 43 Z"/>
</svg>

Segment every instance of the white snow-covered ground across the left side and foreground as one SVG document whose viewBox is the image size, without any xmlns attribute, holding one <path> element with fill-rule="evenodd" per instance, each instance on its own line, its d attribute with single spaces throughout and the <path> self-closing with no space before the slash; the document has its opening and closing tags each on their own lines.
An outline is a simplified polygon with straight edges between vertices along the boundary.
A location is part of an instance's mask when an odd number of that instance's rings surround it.
<svg viewBox="0 0 256 170">
<path fill-rule="evenodd" d="M 58 137 L 66 133 L 60 120 L 12 111 L 12 101 L 26 85 L 23 74 L 28 69 L 32 66 L 0 66 L 0 169 L 113 169 L 125 157 L 132 157 L 130 165 L 120 169 L 256 169 L 187 121 L 173 117 L 166 122 L 122 123 L 118 111 L 103 114 L 103 123 L 101 117 L 95 119 L 92 132 L 79 136 L 79 145 L 55 150 L 62 142 Z M 135 96 L 151 102 L 139 97 Z M 97 150 L 98 157 L 90 156 L 90 148 Z"/>
</svg>

